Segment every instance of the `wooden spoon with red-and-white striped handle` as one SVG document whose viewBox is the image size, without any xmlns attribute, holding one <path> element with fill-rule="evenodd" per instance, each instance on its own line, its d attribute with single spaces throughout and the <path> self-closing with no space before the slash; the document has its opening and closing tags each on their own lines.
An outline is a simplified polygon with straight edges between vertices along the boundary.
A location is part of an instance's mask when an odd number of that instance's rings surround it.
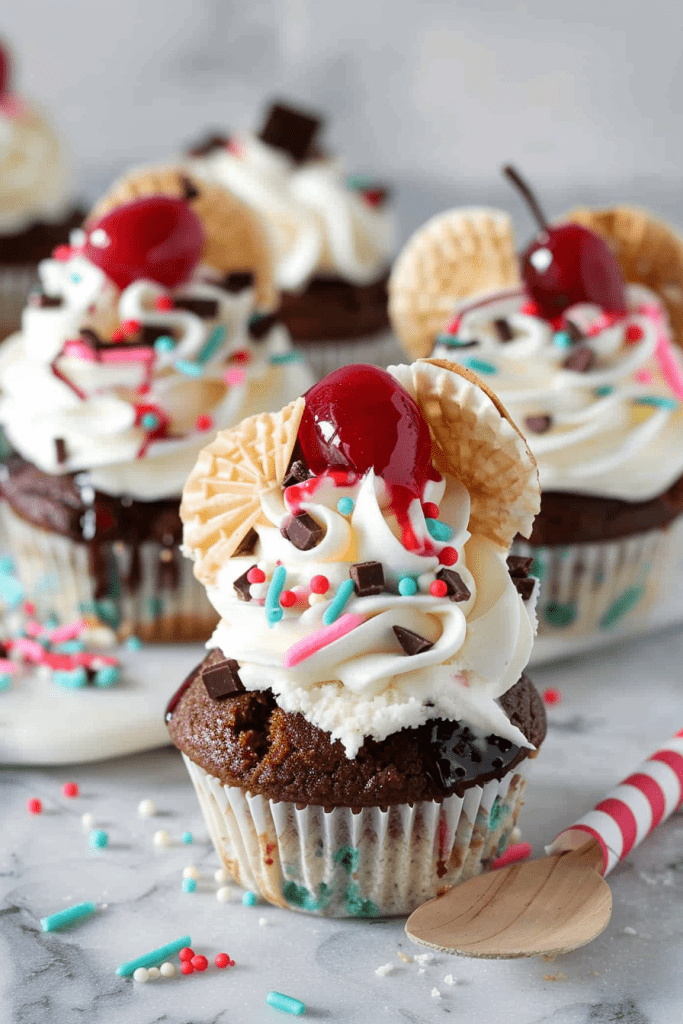
<svg viewBox="0 0 683 1024">
<path fill-rule="evenodd" d="M 418 907 L 414 942 L 463 956 L 565 953 L 608 925 L 604 876 L 683 801 L 683 730 L 604 800 L 560 833 L 549 856 L 510 864 Z"/>
</svg>

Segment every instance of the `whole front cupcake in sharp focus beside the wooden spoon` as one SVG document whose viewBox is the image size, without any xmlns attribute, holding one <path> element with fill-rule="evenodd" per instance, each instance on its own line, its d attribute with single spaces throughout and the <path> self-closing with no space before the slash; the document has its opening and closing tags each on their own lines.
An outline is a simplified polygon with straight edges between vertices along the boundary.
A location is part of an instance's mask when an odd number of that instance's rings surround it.
<svg viewBox="0 0 683 1024">
<path fill-rule="evenodd" d="M 335 371 L 222 431 L 183 492 L 220 614 L 167 709 L 233 879 L 330 916 L 408 913 L 509 842 L 545 733 L 538 475 L 445 361 Z"/>
</svg>

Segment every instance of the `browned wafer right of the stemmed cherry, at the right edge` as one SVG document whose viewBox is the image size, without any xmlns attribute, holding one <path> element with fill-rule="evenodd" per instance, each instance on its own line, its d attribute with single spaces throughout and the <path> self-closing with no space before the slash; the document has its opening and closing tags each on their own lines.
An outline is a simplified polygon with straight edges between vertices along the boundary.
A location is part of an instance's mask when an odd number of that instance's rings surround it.
<svg viewBox="0 0 683 1024">
<path fill-rule="evenodd" d="M 613 249 L 627 284 L 645 285 L 659 296 L 674 338 L 683 347 L 683 239 L 664 221 L 633 206 L 579 207 L 562 219 L 600 234 Z"/>
</svg>

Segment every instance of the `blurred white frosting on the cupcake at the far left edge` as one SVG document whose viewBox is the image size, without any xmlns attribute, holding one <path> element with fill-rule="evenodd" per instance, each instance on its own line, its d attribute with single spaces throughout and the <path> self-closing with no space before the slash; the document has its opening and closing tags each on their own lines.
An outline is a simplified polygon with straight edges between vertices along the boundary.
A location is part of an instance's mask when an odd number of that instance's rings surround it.
<svg viewBox="0 0 683 1024">
<path fill-rule="evenodd" d="M 40 113 L 14 96 L 0 98 L 0 234 L 69 210 L 71 165 Z"/>
</svg>

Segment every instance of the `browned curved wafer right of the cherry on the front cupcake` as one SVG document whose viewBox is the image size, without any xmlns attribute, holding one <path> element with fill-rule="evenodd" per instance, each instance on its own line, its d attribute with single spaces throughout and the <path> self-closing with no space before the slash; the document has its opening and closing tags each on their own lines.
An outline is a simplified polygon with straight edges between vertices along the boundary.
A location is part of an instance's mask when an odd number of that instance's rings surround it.
<svg viewBox="0 0 683 1024">
<path fill-rule="evenodd" d="M 432 460 L 470 495 L 469 530 L 509 548 L 541 508 L 536 460 L 496 395 L 475 374 L 441 359 L 392 367 L 432 435 Z"/>
</svg>

